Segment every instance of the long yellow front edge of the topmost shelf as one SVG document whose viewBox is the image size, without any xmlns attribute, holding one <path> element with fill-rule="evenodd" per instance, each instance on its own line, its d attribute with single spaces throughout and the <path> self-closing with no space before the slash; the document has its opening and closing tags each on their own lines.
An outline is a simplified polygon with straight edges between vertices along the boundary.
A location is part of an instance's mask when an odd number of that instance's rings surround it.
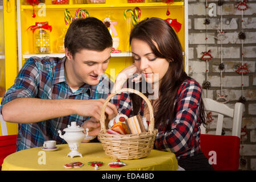
<svg viewBox="0 0 256 182">
<path fill-rule="evenodd" d="M 167 6 L 166 3 L 157 2 L 157 3 L 121 3 L 117 5 L 110 5 L 105 3 L 98 3 L 98 4 L 77 4 L 77 5 L 46 5 L 46 9 L 79 9 L 79 8 L 86 8 L 86 9 L 99 9 L 99 8 L 123 8 L 123 7 L 140 7 L 140 8 L 158 8 Z M 175 6 L 184 6 L 184 2 L 174 2 L 170 7 Z M 22 10 L 32 10 L 33 7 L 31 5 L 22 5 L 20 7 Z M 35 6 L 35 9 L 39 9 L 38 6 Z"/>
</svg>

